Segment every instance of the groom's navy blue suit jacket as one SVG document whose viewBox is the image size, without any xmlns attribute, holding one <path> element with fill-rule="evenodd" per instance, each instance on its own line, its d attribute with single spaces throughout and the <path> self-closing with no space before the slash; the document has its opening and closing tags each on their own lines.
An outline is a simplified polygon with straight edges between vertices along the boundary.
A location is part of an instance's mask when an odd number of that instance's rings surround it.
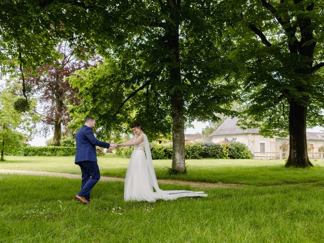
<svg viewBox="0 0 324 243">
<path fill-rule="evenodd" d="M 99 141 L 93 131 L 88 126 L 84 125 L 77 130 L 75 134 L 76 152 L 74 163 L 80 161 L 95 161 L 97 162 L 96 145 L 103 148 L 109 148 L 110 144 Z"/>
</svg>

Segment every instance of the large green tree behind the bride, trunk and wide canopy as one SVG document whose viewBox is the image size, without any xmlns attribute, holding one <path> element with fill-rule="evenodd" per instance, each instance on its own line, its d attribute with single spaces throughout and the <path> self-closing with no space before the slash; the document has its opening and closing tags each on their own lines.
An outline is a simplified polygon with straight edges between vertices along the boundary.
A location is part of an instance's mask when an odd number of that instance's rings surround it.
<svg viewBox="0 0 324 243">
<path fill-rule="evenodd" d="M 173 168 L 176 171 L 185 171 L 186 121 L 189 123 L 193 118 L 215 120 L 215 113 L 229 112 L 226 106 L 233 98 L 232 79 L 229 76 L 231 65 L 226 58 L 230 41 L 228 37 L 223 38 L 222 30 L 227 16 L 220 2 L 13 1 L 8 2 L 6 9 L 10 10 L 9 14 L 2 13 L 0 19 L 0 26 L 5 26 L 6 30 L 15 29 L 10 18 L 16 14 L 22 16 L 16 17 L 16 22 L 24 23 L 22 26 L 26 29 L 27 37 L 37 33 L 36 36 L 45 36 L 45 40 L 53 41 L 53 44 L 60 38 L 66 38 L 74 47 L 78 47 L 80 56 L 96 51 L 109 60 L 107 65 L 120 65 L 123 71 L 121 76 L 126 79 L 118 80 L 119 88 L 114 89 L 114 84 L 104 79 L 96 83 L 96 87 L 89 84 L 88 87 L 93 89 L 88 94 L 111 94 L 112 91 L 96 89 L 98 84 L 112 87 L 118 94 L 116 97 L 123 98 L 119 99 L 119 103 L 111 103 L 109 99 L 112 97 L 105 96 L 105 99 L 98 97 L 93 101 L 99 101 L 103 107 L 112 107 L 112 110 L 105 110 L 104 117 L 110 117 L 110 114 L 116 117 L 126 104 L 136 106 L 131 100 L 136 100 L 137 94 L 146 91 L 147 97 L 151 97 L 153 102 L 145 99 L 148 109 L 139 113 L 143 113 L 142 120 L 150 124 L 150 128 L 159 128 L 153 126 L 153 121 L 160 121 L 161 116 L 164 116 L 163 121 L 171 121 L 165 123 L 164 127 L 172 129 Z M 26 17 L 28 14 L 32 16 Z M 37 18 L 39 16 L 41 19 Z M 11 25 L 7 24 L 8 19 Z M 20 36 L 19 31 L 16 32 L 9 37 Z M 36 47 L 39 43 L 35 42 Z M 22 49 L 27 52 L 34 50 L 34 47 L 24 46 Z M 19 51 L 12 56 L 17 53 Z M 40 56 L 45 57 L 43 54 Z M 28 55 L 22 55 L 21 59 L 28 60 Z M 129 76 L 125 75 L 127 69 L 131 70 Z M 112 76 L 111 73 L 107 75 Z M 81 105 L 87 103 L 85 100 Z M 166 112 L 159 113 L 161 109 Z M 99 116 L 97 110 L 93 111 L 93 115 Z M 125 121 L 133 116 L 134 112 Z M 116 120 L 102 119 L 102 125 L 109 129 Z"/>
</svg>

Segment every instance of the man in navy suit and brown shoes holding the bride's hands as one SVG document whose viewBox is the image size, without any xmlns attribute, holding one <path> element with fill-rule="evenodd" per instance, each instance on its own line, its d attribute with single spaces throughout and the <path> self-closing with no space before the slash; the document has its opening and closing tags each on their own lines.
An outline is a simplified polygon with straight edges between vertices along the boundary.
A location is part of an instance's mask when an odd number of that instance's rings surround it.
<svg viewBox="0 0 324 243">
<path fill-rule="evenodd" d="M 116 147 L 116 144 L 109 144 L 99 141 L 93 134 L 92 129 L 95 127 L 96 121 L 93 117 L 85 119 L 85 125 L 75 134 L 76 153 L 75 164 L 81 168 L 82 184 L 81 190 L 74 197 L 77 201 L 84 204 L 90 203 L 90 192 L 100 179 L 100 171 L 97 163 L 96 151 L 102 152 L 100 148 Z"/>
</svg>

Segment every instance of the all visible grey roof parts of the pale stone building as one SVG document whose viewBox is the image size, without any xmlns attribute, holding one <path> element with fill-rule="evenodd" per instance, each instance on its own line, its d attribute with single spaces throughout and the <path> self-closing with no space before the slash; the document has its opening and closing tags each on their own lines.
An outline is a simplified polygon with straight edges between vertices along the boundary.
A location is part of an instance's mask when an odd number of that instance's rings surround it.
<svg viewBox="0 0 324 243">
<path fill-rule="evenodd" d="M 218 135 L 231 135 L 231 134 L 259 134 L 259 129 L 247 129 L 243 130 L 239 128 L 236 123 L 238 121 L 237 117 L 230 118 L 228 117 L 218 129 L 215 130 L 210 136 L 218 136 Z M 310 133 L 306 132 L 307 140 L 324 140 L 324 133 Z M 279 137 L 275 137 L 279 138 Z M 282 138 L 289 139 L 289 137 Z"/>
</svg>

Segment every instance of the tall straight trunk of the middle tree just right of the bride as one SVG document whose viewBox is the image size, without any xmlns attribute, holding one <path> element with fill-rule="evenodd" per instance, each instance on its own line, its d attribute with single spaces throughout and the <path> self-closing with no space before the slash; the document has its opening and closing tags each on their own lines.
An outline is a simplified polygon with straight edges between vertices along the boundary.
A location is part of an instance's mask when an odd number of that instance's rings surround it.
<svg viewBox="0 0 324 243">
<path fill-rule="evenodd" d="M 180 0 L 168 0 L 167 9 L 171 20 L 167 20 L 166 39 L 169 51 L 171 108 L 172 108 L 172 169 L 173 173 L 186 173 L 184 146 L 184 101 L 181 91 L 181 68 L 179 52 Z"/>
</svg>

